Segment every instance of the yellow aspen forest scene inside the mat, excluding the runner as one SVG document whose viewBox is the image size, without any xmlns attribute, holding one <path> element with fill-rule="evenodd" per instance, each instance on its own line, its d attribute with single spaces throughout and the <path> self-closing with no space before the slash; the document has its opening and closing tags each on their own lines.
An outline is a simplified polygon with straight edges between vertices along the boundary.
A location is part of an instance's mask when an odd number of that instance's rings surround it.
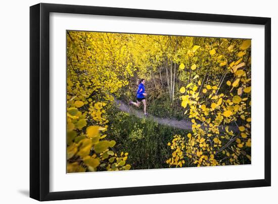
<svg viewBox="0 0 278 204">
<path fill-rule="evenodd" d="M 251 39 L 66 38 L 67 173 L 251 164 Z"/>
</svg>

